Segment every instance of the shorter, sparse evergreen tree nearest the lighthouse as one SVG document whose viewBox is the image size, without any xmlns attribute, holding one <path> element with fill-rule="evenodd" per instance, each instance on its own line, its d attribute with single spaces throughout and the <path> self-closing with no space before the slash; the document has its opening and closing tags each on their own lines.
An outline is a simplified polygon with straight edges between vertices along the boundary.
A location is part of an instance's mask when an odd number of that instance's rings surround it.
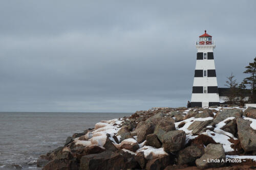
<svg viewBox="0 0 256 170">
<path fill-rule="evenodd" d="M 231 75 L 229 77 L 227 77 L 227 81 L 225 86 L 227 86 L 229 88 L 229 92 L 227 95 L 228 98 L 228 102 L 230 104 L 235 104 L 238 102 L 237 99 L 237 93 L 238 93 L 238 83 L 237 83 L 237 79 L 234 79 L 234 75 L 231 73 Z"/>
</svg>

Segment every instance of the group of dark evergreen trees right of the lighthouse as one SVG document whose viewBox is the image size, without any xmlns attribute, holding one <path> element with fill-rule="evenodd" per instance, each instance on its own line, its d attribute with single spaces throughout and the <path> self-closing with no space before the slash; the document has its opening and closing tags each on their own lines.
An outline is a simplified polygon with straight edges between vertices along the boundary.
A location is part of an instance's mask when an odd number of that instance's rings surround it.
<svg viewBox="0 0 256 170">
<path fill-rule="evenodd" d="M 245 102 L 256 103 L 256 57 L 245 68 L 246 70 L 243 73 L 247 74 L 248 77 L 244 78 L 240 84 L 238 84 L 237 79 L 234 79 L 232 73 L 227 77 L 225 86 L 229 88 L 227 93 L 228 104 L 244 106 Z M 248 96 L 249 99 L 247 100 Z"/>
</svg>

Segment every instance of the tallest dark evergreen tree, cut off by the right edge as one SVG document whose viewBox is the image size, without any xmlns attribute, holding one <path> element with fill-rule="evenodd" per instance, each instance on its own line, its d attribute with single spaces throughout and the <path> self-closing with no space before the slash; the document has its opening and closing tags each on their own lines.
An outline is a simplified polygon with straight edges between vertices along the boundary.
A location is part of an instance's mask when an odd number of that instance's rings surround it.
<svg viewBox="0 0 256 170">
<path fill-rule="evenodd" d="M 249 65 L 245 68 L 247 69 L 244 71 L 244 73 L 249 74 L 249 77 L 243 80 L 243 84 L 250 87 L 250 102 L 256 103 L 256 57 L 254 58 L 254 62 L 249 63 Z"/>
</svg>

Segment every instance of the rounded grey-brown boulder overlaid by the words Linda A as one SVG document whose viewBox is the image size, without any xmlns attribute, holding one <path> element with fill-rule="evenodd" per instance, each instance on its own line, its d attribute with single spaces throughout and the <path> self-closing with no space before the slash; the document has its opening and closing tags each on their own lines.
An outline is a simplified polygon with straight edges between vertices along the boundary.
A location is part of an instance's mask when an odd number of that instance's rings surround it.
<svg viewBox="0 0 256 170">
<path fill-rule="evenodd" d="M 225 158 L 225 151 L 222 144 L 208 144 L 204 149 L 204 155 L 196 160 L 196 165 L 201 169 L 220 167 L 225 164 Z M 217 162 L 214 160 L 217 160 Z"/>
</svg>

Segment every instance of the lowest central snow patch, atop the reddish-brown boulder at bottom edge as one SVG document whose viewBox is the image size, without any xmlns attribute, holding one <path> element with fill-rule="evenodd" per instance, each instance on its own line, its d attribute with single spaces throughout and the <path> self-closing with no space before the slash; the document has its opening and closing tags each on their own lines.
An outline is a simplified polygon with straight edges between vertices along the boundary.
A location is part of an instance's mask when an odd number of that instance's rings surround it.
<svg viewBox="0 0 256 170">
<path fill-rule="evenodd" d="M 154 148 L 150 146 L 144 146 L 136 151 L 136 153 L 143 152 L 146 159 L 154 159 L 163 155 L 168 155 L 164 152 L 163 148 Z"/>
</svg>

